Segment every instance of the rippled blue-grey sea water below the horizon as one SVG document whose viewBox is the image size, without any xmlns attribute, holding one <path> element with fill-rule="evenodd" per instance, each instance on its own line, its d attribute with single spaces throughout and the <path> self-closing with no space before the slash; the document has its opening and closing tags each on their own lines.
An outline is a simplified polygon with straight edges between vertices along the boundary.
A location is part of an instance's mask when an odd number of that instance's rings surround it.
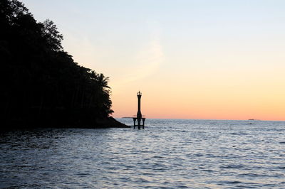
<svg viewBox="0 0 285 189">
<path fill-rule="evenodd" d="M 0 188 L 8 187 L 285 188 L 285 122 L 10 131 L 0 138 Z"/>
</svg>

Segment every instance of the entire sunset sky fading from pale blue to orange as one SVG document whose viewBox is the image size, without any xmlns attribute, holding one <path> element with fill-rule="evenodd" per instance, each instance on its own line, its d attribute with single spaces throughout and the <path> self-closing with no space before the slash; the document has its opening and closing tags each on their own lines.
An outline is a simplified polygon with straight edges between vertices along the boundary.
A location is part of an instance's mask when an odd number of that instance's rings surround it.
<svg viewBox="0 0 285 189">
<path fill-rule="evenodd" d="M 110 77 L 113 117 L 285 120 L 285 1 L 24 0 Z"/>
</svg>

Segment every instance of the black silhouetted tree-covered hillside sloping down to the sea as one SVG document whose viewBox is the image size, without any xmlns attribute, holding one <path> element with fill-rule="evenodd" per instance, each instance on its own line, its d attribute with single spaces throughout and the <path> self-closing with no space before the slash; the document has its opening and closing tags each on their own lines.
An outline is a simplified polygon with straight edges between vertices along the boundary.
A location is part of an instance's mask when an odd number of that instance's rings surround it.
<svg viewBox="0 0 285 189">
<path fill-rule="evenodd" d="M 109 117 L 109 78 L 73 61 L 53 21 L 1 0 L 0 26 L 2 129 L 125 126 Z"/>
</svg>

